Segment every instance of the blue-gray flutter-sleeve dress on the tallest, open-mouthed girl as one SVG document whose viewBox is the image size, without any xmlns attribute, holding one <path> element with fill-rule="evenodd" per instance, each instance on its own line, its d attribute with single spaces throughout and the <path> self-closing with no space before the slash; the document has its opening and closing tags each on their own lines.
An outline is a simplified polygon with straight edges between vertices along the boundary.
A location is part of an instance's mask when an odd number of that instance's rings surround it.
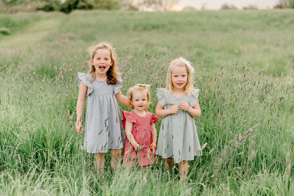
<svg viewBox="0 0 294 196">
<path fill-rule="evenodd" d="M 108 149 L 123 148 L 121 114 L 114 96 L 123 86 L 121 73 L 115 85 L 108 85 L 106 80 L 93 81 L 91 74 L 78 72 L 78 87 L 81 81 L 88 87 L 83 149 L 88 153 L 107 153 Z"/>
</svg>

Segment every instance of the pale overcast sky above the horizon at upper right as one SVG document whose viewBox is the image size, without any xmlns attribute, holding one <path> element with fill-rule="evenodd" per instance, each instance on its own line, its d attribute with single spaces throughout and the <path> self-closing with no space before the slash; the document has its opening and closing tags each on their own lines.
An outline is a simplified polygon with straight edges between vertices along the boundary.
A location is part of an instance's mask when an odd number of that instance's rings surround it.
<svg viewBox="0 0 294 196">
<path fill-rule="evenodd" d="M 280 0 L 179 0 L 179 6 L 193 6 L 201 9 L 205 5 L 205 9 L 220 9 L 223 4 L 233 4 L 239 9 L 245 6 L 275 6 Z"/>
</svg>

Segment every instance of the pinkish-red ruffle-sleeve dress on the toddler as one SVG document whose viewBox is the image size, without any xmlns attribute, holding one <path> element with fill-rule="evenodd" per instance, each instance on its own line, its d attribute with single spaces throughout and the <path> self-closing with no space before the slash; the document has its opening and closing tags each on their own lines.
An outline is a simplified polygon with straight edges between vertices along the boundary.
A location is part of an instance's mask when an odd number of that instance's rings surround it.
<svg viewBox="0 0 294 196">
<path fill-rule="evenodd" d="M 145 110 L 146 111 L 146 110 Z M 141 151 L 136 151 L 133 145 L 129 142 L 128 138 L 125 138 L 125 146 L 123 148 L 123 163 L 128 166 L 148 166 L 156 163 L 156 155 L 152 156 L 152 150 L 150 148 L 153 142 L 153 133 L 151 129 L 152 123 L 158 121 L 158 117 L 146 111 L 146 116 L 141 117 L 135 113 L 134 110 L 131 112 L 122 111 L 123 115 L 123 128 L 126 128 L 126 120 L 133 122 L 132 134 L 136 142 L 143 146 Z"/>
</svg>

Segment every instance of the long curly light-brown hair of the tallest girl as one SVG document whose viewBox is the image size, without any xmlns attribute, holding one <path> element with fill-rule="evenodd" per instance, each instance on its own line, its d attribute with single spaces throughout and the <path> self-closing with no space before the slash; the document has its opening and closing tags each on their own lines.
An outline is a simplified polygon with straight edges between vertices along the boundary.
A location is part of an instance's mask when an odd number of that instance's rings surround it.
<svg viewBox="0 0 294 196">
<path fill-rule="evenodd" d="M 94 59 L 94 56 L 96 54 L 96 51 L 99 49 L 107 49 L 110 52 L 110 58 L 112 60 L 112 65 L 110 68 L 107 70 L 106 75 L 107 75 L 107 84 L 117 84 L 118 83 L 118 69 L 116 67 L 116 62 L 117 62 L 117 54 L 116 54 L 116 49 L 112 46 L 112 43 L 109 43 L 107 41 L 100 42 L 98 44 L 93 43 L 92 46 L 89 47 L 87 52 L 92 56 L 92 59 Z M 96 78 L 95 75 L 95 66 L 91 64 L 90 60 L 90 70 L 88 73 L 91 73 L 93 76 L 93 82 Z"/>
</svg>

